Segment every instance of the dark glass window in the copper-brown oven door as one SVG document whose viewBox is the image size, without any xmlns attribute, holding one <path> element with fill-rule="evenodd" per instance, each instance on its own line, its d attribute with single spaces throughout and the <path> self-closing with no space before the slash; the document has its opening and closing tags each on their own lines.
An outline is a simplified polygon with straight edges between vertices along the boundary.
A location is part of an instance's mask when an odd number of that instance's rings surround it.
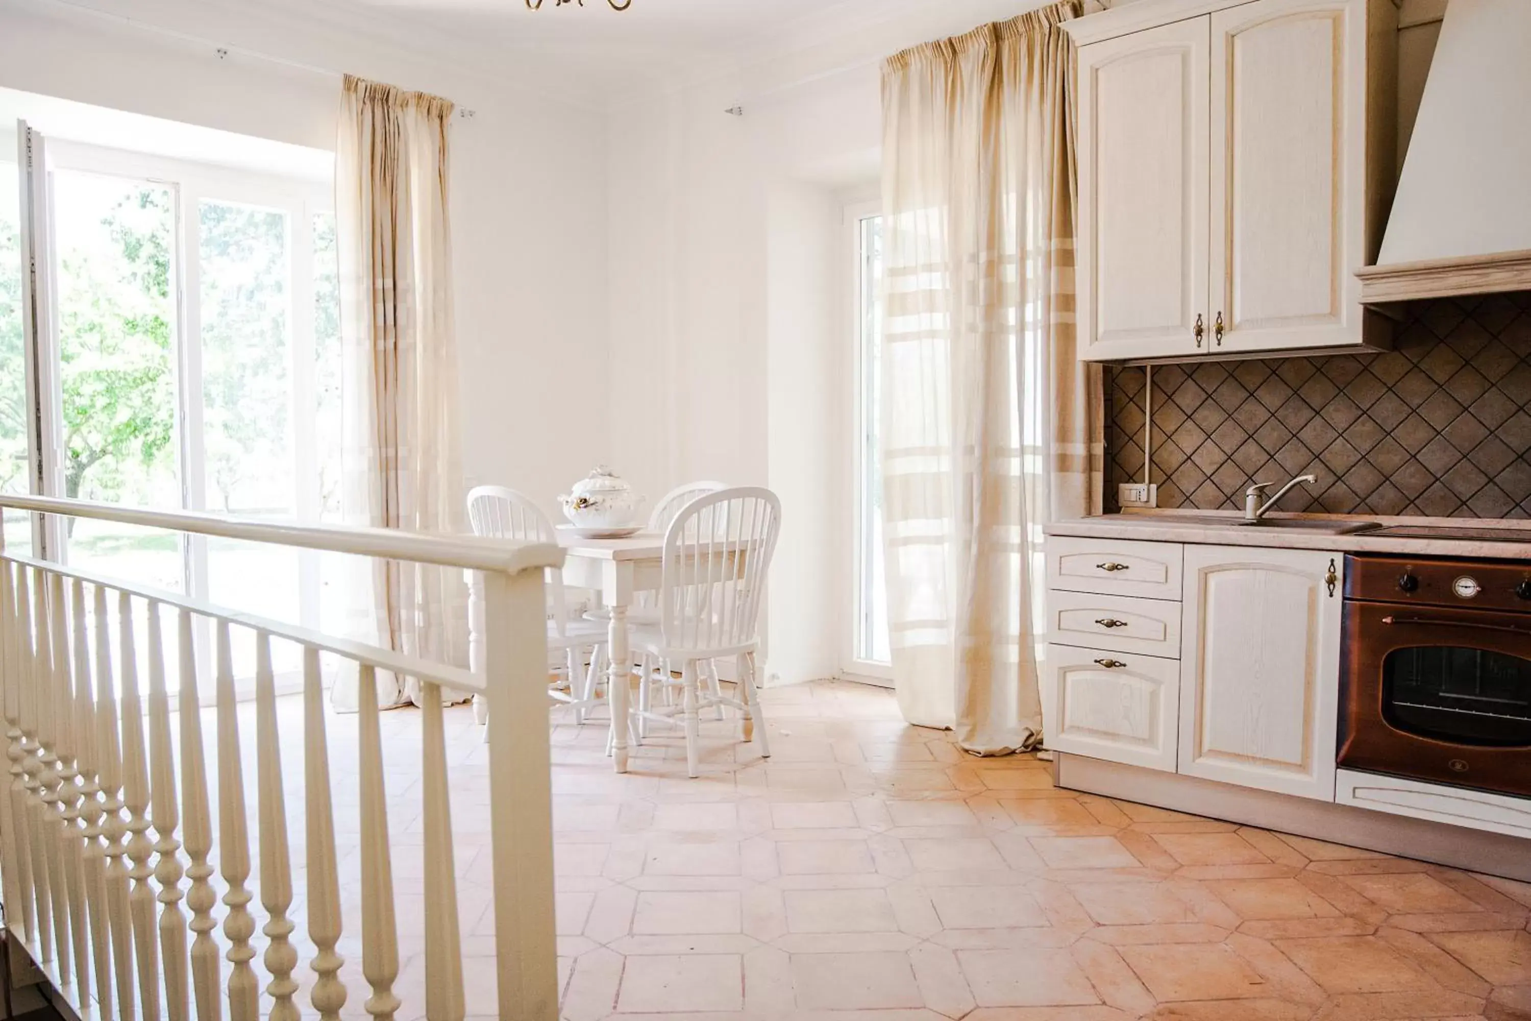
<svg viewBox="0 0 1531 1021">
<path fill-rule="evenodd" d="M 1531 747 L 1531 660 L 1459 646 L 1395 649 L 1382 660 L 1382 716 L 1424 738 Z"/>
</svg>

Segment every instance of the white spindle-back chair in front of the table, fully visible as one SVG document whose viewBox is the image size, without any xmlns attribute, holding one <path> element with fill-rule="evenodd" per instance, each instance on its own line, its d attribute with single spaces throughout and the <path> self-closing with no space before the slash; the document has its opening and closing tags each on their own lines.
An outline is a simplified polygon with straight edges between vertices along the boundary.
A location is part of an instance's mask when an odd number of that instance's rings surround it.
<svg viewBox="0 0 1531 1021">
<path fill-rule="evenodd" d="M 664 531 L 657 625 L 634 631 L 634 648 L 657 670 L 645 670 L 638 719 L 675 724 L 686 733 L 686 771 L 697 776 L 700 712 L 729 706 L 739 712 L 744 739 L 759 741 L 770 756 L 761 716 L 756 652 L 759 608 L 770 560 L 781 534 L 781 502 L 770 490 L 727 488 L 698 496 L 680 510 Z M 735 657 L 739 698 L 729 698 L 701 678 L 715 677 L 713 663 Z M 655 707 L 649 689 L 666 684 L 681 667 L 681 706 Z"/>
</svg>

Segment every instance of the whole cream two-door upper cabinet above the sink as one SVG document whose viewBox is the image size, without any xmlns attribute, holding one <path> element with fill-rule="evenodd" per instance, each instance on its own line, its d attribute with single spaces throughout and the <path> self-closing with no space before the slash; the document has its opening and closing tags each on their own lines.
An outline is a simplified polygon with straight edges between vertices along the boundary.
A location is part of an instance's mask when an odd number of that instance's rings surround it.
<svg viewBox="0 0 1531 1021">
<path fill-rule="evenodd" d="M 1069 23 L 1082 358 L 1387 346 L 1355 271 L 1392 199 L 1396 18 L 1392 0 L 1141 0 Z"/>
</svg>

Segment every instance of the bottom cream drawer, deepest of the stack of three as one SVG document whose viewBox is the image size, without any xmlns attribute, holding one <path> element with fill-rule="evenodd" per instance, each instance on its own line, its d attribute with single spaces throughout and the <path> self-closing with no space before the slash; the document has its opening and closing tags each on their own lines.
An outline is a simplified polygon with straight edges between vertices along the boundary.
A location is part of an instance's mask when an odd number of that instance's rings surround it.
<svg viewBox="0 0 1531 1021">
<path fill-rule="evenodd" d="M 1044 683 L 1049 749 L 1174 771 L 1176 660 L 1049 644 Z"/>
</svg>

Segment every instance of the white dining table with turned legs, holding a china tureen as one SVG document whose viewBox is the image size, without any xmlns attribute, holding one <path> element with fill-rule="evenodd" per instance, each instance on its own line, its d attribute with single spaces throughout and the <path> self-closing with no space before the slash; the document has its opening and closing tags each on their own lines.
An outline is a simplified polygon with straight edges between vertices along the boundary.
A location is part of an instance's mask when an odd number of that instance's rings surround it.
<svg viewBox="0 0 1531 1021">
<path fill-rule="evenodd" d="M 628 539 L 582 539 L 559 530 L 563 546 L 563 585 L 600 592 L 611 612 L 606 640 L 611 674 L 606 700 L 611 706 L 611 759 L 619 773 L 628 771 L 629 713 L 632 701 L 632 644 L 628 611 L 637 592 L 657 591 L 664 559 L 664 537 L 640 533 Z"/>
</svg>

